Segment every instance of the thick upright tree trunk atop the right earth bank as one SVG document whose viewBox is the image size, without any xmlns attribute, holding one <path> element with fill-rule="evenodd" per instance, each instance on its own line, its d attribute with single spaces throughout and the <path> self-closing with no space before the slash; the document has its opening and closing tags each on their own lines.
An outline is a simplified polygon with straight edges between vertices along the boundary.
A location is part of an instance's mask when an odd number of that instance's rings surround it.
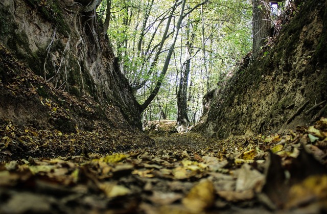
<svg viewBox="0 0 327 214">
<path fill-rule="evenodd" d="M 271 29 L 269 0 L 252 0 L 252 59 L 256 59 Z"/>
</svg>

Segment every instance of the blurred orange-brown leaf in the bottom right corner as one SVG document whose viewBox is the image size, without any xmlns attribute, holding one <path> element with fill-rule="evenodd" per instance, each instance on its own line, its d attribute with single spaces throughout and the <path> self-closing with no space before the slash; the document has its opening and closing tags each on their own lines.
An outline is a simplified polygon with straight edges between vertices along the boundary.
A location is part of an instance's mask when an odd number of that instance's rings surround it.
<svg viewBox="0 0 327 214">
<path fill-rule="evenodd" d="M 310 176 L 293 185 L 286 207 L 299 207 L 313 201 L 327 202 L 327 174 Z"/>
</svg>

